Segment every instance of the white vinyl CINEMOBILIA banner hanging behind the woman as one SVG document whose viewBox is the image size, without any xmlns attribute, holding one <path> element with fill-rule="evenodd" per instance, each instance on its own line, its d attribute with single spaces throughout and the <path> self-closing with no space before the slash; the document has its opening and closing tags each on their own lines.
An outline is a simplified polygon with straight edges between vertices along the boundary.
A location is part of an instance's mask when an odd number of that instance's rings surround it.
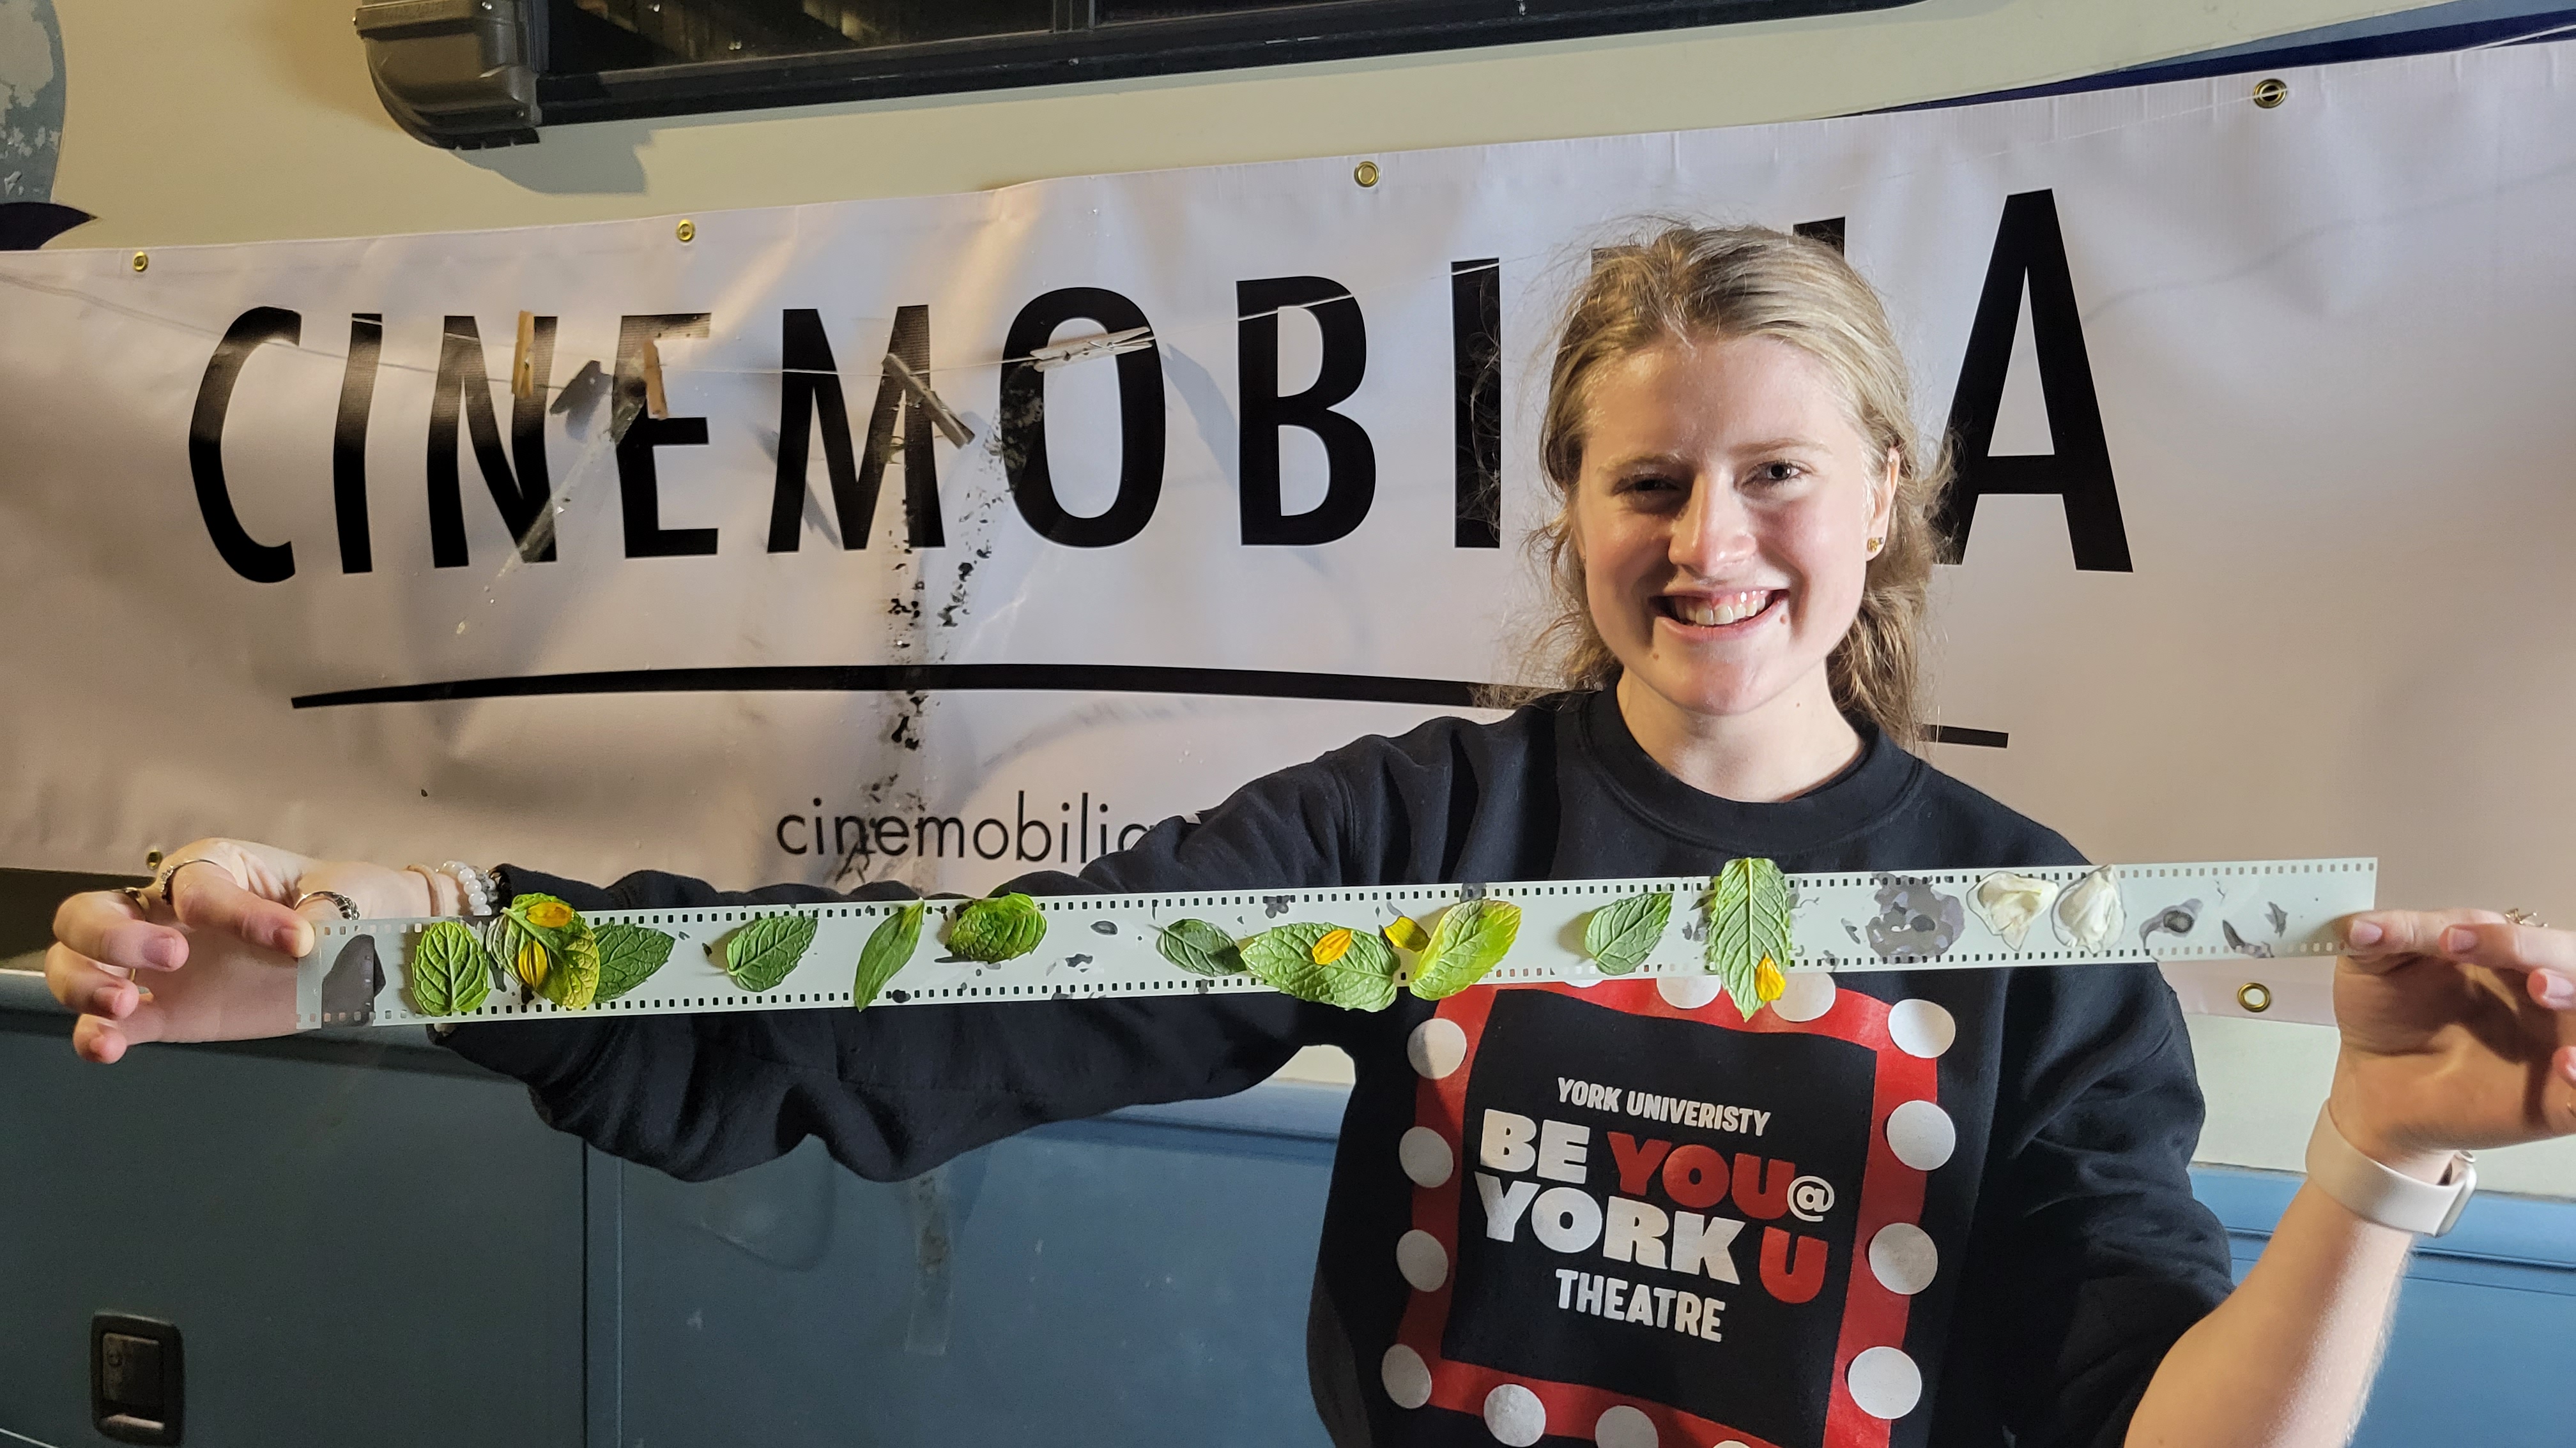
<svg viewBox="0 0 2576 1448">
<path fill-rule="evenodd" d="M 1525 675 L 1548 322 L 1672 214 L 1844 237 L 1963 441 L 1942 768 L 2563 915 L 2571 62 L 8 255 L 0 861 L 1069 868 Z"/>
</svg>

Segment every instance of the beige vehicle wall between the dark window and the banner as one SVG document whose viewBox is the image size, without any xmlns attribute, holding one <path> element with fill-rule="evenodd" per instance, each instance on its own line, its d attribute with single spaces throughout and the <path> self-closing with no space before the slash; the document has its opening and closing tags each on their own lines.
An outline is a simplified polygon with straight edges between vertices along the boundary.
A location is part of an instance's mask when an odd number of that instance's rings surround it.
<svg viewBox="0 0 2576 1448">
<path fill-rule="evenodd" d="M 57 0 L 57 245 L 585 222 L 1043 175 L 1834 116 L 2406 10 L 2391 0 L 1924 0 L 1901 10 L 1206 77 L 549 131 L 438 152 L 376 106 L 353 0 Z"/>
</svg>

